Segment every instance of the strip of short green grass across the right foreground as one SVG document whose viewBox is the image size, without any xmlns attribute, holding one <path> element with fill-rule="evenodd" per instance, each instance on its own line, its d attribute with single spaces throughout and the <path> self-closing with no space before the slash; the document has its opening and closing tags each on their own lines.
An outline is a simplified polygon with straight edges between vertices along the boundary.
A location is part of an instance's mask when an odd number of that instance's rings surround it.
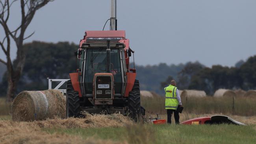
<svg viewBox="0 0 256 144">
<path fill-rule="evenodd" d="M 234 125 L 134 125 L 87 129 L 44 129 L 86 139 L 113 140 L 130 144 L 255 144 L 256 126 Z"/>
</svg>

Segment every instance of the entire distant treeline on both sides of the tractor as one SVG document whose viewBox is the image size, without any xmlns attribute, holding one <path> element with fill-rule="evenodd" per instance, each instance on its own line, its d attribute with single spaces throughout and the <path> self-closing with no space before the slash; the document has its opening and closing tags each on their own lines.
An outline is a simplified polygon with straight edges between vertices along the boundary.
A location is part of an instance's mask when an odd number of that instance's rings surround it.
<svg viewBox="0 0 256 144">
<path fill-rule="evenodd" d="M 17 92 L 22 90 L 48 89 L 48 79 L 68 79 L 69 73 L 76 70 L 74 52 L 78 45 L 69 42 L 56 44 L 34 41 L 25 44 L 26 63 Z M 15 61 L 14 61 L 15 63 Z M 133 64 L 131 65 L 133 67 Z M 236 67 L 212 66 L 208 68 L 199 62 L 179 65 L 139 66 L 135 64 L 137 79 L 142 90 L 163 94 L 163 87 L 171 79 L 178 82 L 179 89 L 205 90 L 207 94 L 219 88 L 223 89 L 256 89 L 256 56 L 247 61 L 239 61 Z M 5 65 L 0 65 L 0 96 L 6 94 L 7 78 Z"/>
</svg>

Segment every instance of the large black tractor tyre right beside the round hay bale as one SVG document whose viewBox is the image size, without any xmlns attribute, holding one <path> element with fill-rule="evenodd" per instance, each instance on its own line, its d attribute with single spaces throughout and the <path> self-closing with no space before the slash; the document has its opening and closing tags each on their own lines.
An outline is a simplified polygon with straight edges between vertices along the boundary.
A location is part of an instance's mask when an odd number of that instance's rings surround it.
<svg viewBox="0 0 256 144">
<path fill-rule="evenodd" d="M 80 98 L 78 91 L 75 91 L 70 80 L 67 81 L 66 92 L 66 116 L 79 117 L 80 116 Z"/>
</svg>

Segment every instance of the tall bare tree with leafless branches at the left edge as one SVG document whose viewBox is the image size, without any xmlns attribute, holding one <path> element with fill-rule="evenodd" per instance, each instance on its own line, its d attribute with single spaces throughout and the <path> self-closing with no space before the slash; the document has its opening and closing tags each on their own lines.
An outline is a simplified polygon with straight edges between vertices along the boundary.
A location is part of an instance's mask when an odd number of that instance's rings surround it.
<svg viewBox="0 0 256 144">
<path fill-rule="evenodd" d="M 10 30 L 7 24 L 11 13 L 10 8 L 15 2 L 19 1 L 21 22 L 16 29 Z M 6 55 L 6 61 L 0 58 L 0 62 L 4 63 L 7 67 L 7 102 L 13 101 L 17 82 L 20 79 L 24 67 L 26 57 L 24 54 L 23 41 L 31 37 L 34 33 L 33 32 L 32 34 L 25 37 L 25 31 L 28 28 L 30 22 L 32 21 L 35 12 L 51 1 L 54 0 L 0 0 L 0 24 L 2 25 L 5 33 L 4 39 L 0 41 L 0 47 Z M 13 39 L 17 47 L 17 57 L 15 60 L 15 64 L 13 64 L 10 57 L 11 39 Z"/>
</svg>

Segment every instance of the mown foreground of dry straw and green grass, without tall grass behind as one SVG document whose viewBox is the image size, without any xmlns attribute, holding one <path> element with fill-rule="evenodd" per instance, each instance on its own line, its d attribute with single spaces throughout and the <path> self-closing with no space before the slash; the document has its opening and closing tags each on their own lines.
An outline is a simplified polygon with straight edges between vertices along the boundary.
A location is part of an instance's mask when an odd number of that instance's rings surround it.
<svg viewBox="0 0 256 144">
<path fill-rule="evenodd" d="M 189 114 L 189 117 L 199 115 Z M 205 116 L 205 115 L 200 115 Z M 247 119 L 245 116 L 230 116 Z M 251 117 L 253 119 L 253 117 Z M 254 117 L 255 118 L 255 117 Z M 181 119 L 184 116 L 181 115 Z M 121 114 L 34 122 L 0 120 L 1 144 L 254 144 L 256 125 L 135 124 Z"/>
</svg>

